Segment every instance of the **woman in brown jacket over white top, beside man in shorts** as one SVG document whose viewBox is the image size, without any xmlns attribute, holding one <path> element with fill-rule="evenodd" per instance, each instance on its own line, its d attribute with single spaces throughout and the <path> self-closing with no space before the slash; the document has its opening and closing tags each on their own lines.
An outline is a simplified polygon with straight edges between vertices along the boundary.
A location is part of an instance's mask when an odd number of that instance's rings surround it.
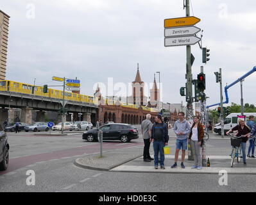
<svg viewBox="0 0 256 205">
<path fill-rule="evenodd" d="M 189 133 L 189 142 L 191 142 L 192 152 L 194 153 L 194 166 L 200 170 L 201 166 L 201 146 L 203 145 L 203 125 L 199 121 L 199 117 L 194 117 L 194 123 Z"/>
</svg>

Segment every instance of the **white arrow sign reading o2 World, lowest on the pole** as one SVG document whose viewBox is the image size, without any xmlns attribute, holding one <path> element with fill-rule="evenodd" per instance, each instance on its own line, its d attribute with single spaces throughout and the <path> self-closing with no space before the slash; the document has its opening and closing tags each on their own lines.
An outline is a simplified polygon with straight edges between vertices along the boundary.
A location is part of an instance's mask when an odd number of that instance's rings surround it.
<svg viewBox="0 0 256 205">
<path fill-rule="evenodd" d="M 164 46 L 178 46 L 178 45 L 194 45 L 199 42 L 201 38 L 198 37 L 175 37 L 164 38 Z"/>
</svg>

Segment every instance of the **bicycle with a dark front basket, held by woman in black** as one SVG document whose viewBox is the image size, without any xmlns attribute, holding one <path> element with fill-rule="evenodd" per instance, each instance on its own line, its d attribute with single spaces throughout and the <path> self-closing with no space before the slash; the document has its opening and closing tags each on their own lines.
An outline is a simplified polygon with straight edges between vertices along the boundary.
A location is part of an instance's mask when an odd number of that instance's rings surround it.
<svg viewBox="0 0 256 205">
<path fill-rule="evenodd" d="M 232 146 L 232 152 L 231 152 L 231 167 L 233 167 L 234 165 L 234 161 L 235 158 L 237 158 L 237 163 L 239 163 L 240 161 L 240 156 L 241 156 L 241 149 L 240 149 L 240 145 L 242 143 L 242 136 L 235 136 L 232 134 L 228 134 L 229 136 L 231 136 L 230 138 L 230 142 L 231 142 L 231 146 Z"/>
</svg>

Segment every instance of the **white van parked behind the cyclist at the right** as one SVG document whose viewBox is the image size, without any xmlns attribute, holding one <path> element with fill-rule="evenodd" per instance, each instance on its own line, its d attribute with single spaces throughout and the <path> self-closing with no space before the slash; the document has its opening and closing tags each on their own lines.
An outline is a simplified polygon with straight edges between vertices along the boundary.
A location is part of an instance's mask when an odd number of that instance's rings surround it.
<svg viewBox="0 0 256 205">
<path fill-rule="evenodd" d="M 225 135 L 226 135 L 226 132 L 228 130 L 237 126 L 237 124 L 238 124 L 237 115 L 241 115 L 241 113 L 231 113 L 230 115 L 226 116 L 226 118 L 224 119 L 224 133 L 225 133 Z M 255 119 L 256 119 L 256 113 L 244 113 L 244 115 L 246 115 L 246 121 L 245 122 L 247 122 L 250 115 L 255 116 Z M 255 120 L 255 123 L 256 123 L 256 120 Z M 215 125 L 214 133 L 218 133 L 219 135 L 221 135 L 221 124 L 220 123 Z"/>
</svg>

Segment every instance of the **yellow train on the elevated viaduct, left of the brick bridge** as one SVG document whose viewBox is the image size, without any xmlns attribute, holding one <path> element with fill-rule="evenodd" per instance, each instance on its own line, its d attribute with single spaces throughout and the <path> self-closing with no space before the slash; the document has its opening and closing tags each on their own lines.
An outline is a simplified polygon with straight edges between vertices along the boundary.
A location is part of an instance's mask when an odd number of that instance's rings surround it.
<svg viewBox="0 0 256 205">
<path fill-rule="evenodd" d="M 6 92 L 17 92 L 22 94 L 32 94 L 32 87 L 33 85 L 27 83 L 19 83 L 10 80 L 1 80 L 0 81 L 0 91 Z M 44 97 L 51 97 L 57 99 L 63 99 L 63 91 L 55 90 L 48 88 L 48 92 L 43 92 L 42 86 L 35 86 L 34 94 L 37 96 L 44 96 Z M 74 94 L 72 92 L 65 92 L 65 100 L 68 101 L 78 101 L 78 102 L 88 102 L 92 104 L 99 105 L 98 97 L 91 97 L 89 95 L 81 95 L 81 94 Z"/>
</svg>

